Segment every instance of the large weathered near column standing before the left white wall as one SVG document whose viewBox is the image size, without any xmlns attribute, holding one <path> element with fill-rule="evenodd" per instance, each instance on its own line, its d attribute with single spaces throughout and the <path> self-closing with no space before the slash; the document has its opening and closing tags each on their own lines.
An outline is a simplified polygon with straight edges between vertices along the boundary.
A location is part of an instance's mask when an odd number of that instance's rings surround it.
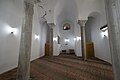
<svg viewBox="0 0 120 80">
<path fill-rule="evenodd" d="M 25 17 L 21 31 L 21 42 L 19 49 L 18 71 L 16 80 L 29 80 L 30 78 L 30 55 L 34 5 L 24 1 L 24 7 Z"/>
</svg>

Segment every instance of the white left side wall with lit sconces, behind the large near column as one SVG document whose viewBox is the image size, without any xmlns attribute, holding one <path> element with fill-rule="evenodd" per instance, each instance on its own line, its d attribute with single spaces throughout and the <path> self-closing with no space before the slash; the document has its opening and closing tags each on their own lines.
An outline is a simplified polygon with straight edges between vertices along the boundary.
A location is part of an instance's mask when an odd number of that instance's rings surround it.
<svg viewBox="0 0 120 80">
<path fill-rule="evenodd" d="M 38 14 L 36 9 L 34 11 L 31 60 L 43 56 L 40 41 L 34 38 L 35 34 L 41 36 Z M 23 0 L 0 0 L 0 74 L 17 67 L 23 18 Z M 17 32 L 11 34 L 10 27 Z"/>
</svg>

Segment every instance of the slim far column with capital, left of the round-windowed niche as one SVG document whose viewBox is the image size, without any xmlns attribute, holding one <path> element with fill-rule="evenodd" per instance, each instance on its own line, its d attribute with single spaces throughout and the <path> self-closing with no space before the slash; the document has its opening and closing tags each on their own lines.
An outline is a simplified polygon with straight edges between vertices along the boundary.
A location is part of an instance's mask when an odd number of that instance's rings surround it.
<svg viewBox="0 0 120 80">
<path fill-rule="evenodd" d="M 53 28 L 55 27 L 55 24 L 49 23 L 48 25 L 50 27 L 50 48 L 49 48 L 50 52 L 49 54 L 50 56 L 53 56 Z"/>
</svg>

